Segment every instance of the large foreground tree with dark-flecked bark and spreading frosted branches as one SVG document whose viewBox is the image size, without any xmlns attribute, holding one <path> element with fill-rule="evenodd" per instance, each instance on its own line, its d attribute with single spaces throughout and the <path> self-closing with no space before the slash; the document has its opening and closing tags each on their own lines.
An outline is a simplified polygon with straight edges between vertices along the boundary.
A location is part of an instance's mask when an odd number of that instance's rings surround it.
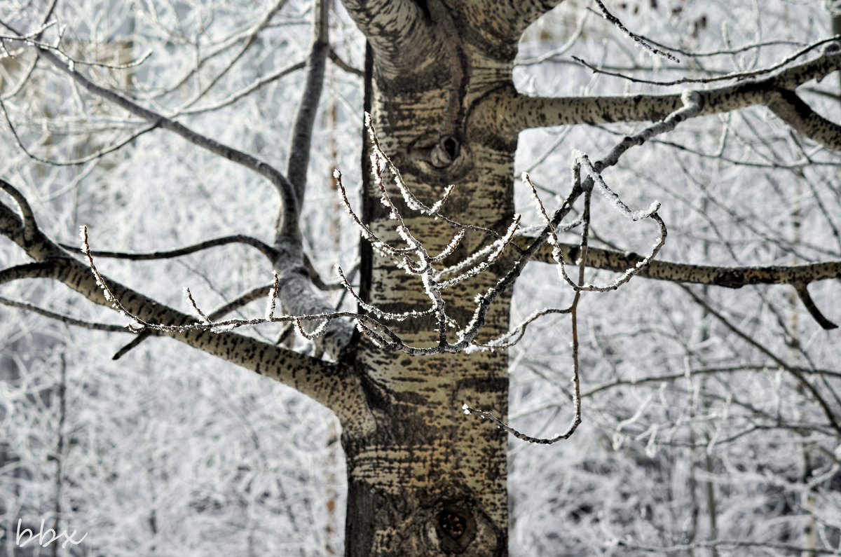
<svg viewBox="0 0 841 557">
<path fill-rule="evenodd" d="M 283 4 L 276 3 L 246 31 L 240 52 L 257 40 Z M 343 180 L 336 174 L 341 195 L 353 218 L 359 220 L 363 236 L 359 280 L 352 290 L 359 304 L 357 311 L 336 310 L 316 292 L 317 273 L 304 255 L 301 220 L 309 157 L 314 149 L 313 126 L 326 60 L 332 55 L 341 62 L 328 41 L 326 3 L 313 4 L 306 78 L 283 172 L 266 159 L 217 141 L 182 121 L 241 54 L 232 56 L 230 64 L 209 82 L 197 77 L 194 96 L 182 103 L 180 114 L 167 114 L 156 109 L 155 103 L 145 102 L 146 94 L 158 102 L 151 89 L 143 93 L 137 85 L 106 86 L 103 77 L 86 71 L 83 58 L 70 56 L 58 34 L 50 39 L 50 33 L 56 33 L 50 29 L 52 8 L 40 13 L 40 19 L 30 16 L 3 21 L 8 31 L 3 44 L 8 49 L 34 52 L 33 67 L 61 72 L 65 82 L 72 83 L 80 94 L 103 103 L 107 107 L 103 111 L 112 111 L 135 126 L 128 140 L 94 149 L 93 154 L 82 158 L 98 160 L 103 154 L 100 151 L 123 146 L 140 134 L 166 131 L 238 163 L 272 184 L 280 209 L 271 241 L 230 236 L 180 252 L 241 242 L 256 247 L 276 271 L 272 285 L 252 289 L 230 305 L 206 314 L 188 292 L 194 309 L 189 314 L 98 272 L 103 266 L 101 257 L 140 256 L 97 252 L 94 241 L 83 231 L 84 257 L 76 257 L 73 250 L 42 231 L 40 217 L 36 218 L 19 188 L 3 181 L 0 184 L 12 196 L 17 212 L 11 205 L 0 205 L 0 231 L 31 262 L 5 268 L 0 272 L 0 283 L 29 278 L 59 281 L 94 304 L 115 305 L 137 333 L 132 346 L 147 337 L 173 337 L 292 386 L 333 411 L 341 422 L 347 464 L 347 554 L 506 554 L 506 431 L 537 443 L 552 443 L 569 438 L 581 421 L 578 306 L 582 294 L 620 287 L 624 291 L 623 285 L 632 277 L 732 289 L 786 284 L 815 321 L 829 329 L 833 323 L 818 309 L 820 304 L 812 301 L 807 287 L 841 276 L 837 248 L 828 252 L 832 257 L 814 263 L 762 267 L 662 259 L 658 253 L 669 223 L 659 215 L 659 206 L 630 209 L 631 203 L 623 200 L 626 196 L 614 193 L 616 188 L 607 178 L 609 169 L 631 156 L 638 146 L 672 132 L 687 120 L 753 106 L 770 111 L 792 134 L 838 151 L 838 125 L 817 114 L 799 93 L 808 82 L 839 68 L 841 50 L 837 42 L 821 40 L 791 50 L 765 69 L 705 77 L 701 79 L 705 86 L 693 85 L 683 93 L 574 97 L 519 93 L 512 75 L 522 36 L 557 4 L 343 2 L 368 44 L 364 110 L 370 114 L 370 122 L 362 141 L 362 161 L 367 165 L 373 159 L 373 172 L 363 172 L 358 207 L 346 200 Z M 627 31 L 608 8 L 595 4 L 607 19 Z M 632 37 L 655 54 L 668 50 L 652 40 Z M 128 68 L 124 63 L 119 66 Z M 145 77 L 143 67 L 138 66 L 138 82 Z M 193 74 L 199 76 L 200 72 L 197 69 Z M 154 82 L 154 75 L 148 77 Z M 29 78 L 24 73 L 19 88 L 27 87 Z M 261 79 L 253 79 L 256 88 Z M 143 124 L 137 127 L 139 121 Z M 519 230 L 512 179 L 519 136 L 532 128 L 615 122 L 646 124 L 622 134 L 605 156 L 576 156 L 569 194 L 557 210 L 547 210 L 537 187 L 523 178 L 525 188 L 537 202 L 541 229 Z M 8 123 L 14 130 L 11 119 Z M 26 148 L 25 137 L 16 135 L 15 139 L 21 149 Z M 815 159 L 811 151 L 803 152 L 807 161 Z M 393 178 L 396 188 L 391 185 Z M 565 179 L 557 181 L 553 186 L 556 191 Z M 449 188 L 450 184 L 454 188 Z M 598 216 L 590 211 L 594 191 L 606 194 L 619 214 L 629 220 L 654 221 L 653 227 L 645 229 L 658 237 L 650 253 L 639 256 L 622 251 L 625 246 L 590 246 L 590 227 Z M 580 240 L 562 241 L 560 235 L 573 230 L 573 225 L 578 227 Z M 164 255 L 173 254 L 149 257 Z M 542 310 L 537 315 L 563 312 L 571 321 L 572 422 L 565 432 L 549 439 L 531 438 L 504 425 L 509 397 L 506 348 L 517 342 L 533 321 L 529 317 L 512 326 L 511 294 L 516 278 L 530 262 L 554 263 L 561 272 L 561 288 L 574 293 L 569 305 L 561 310 Z M 569 266 L 577 266 L 577 274 L 568 272 Z M 619 275 L 595 286 L 585 276 L 588 268 Z M 344 275 L 340 278 L 350 290 L 349 281 Z M 634 279 L 634 284 L 638 280 Z M 706 319 L 722 317 L 720 321 L 731 327 L 734 336 L 750 342 L 748 335 L 706 304 L 702 296 L 694 290 L 688 292 L 704 308 Z M 264 319 L 224 321 L 231 310 L 254 300 L 267 300 Z M 276 302 L 283 314 L 275 310 Z M 20 305 L 12 300 L 5 303 Z M 24 308 L 67 319 L 34 305 Z M 304 353 L 290 347 L 289 342 L 266 342 L 233 330 L 260 321 L 294 326 L 302 336 L 315 339 L 314 352 Z M 760 352 L 763 348 L 757 347 Z M 762 365 L 770 362 L 791 374 L 805 396 L 822 411 L 823 429 L 833 435 L 841 433 L 841 408 L 833 387 L 826 383 L 826 374 L 816 374 L 814 365 L 801 369 L 776 353 L 765 353 L 764 357 Z M 461 411 L 463 406 L 468 416 Z M 471 413 L 500 427 L 489 427 L 484 420 L 469 416 Z"/>
</svg>

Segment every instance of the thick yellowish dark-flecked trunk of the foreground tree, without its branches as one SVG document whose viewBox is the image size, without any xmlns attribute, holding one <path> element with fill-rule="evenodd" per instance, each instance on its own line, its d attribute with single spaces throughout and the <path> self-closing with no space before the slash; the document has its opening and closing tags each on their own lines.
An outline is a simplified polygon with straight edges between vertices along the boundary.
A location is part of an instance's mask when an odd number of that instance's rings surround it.
<svg viewBox="0 0 841 557">
<path fill-rule="evenodd" d="M 448 104 L 450 74 L 440 65 L 438 75 L 432 72 L 394 82 L 378 73 L 374 60 L 373 124 L 383 151 L 412 193 L 430 206 L 448 184 L 456 184 L 442 213 L 463 224 L 504 233 L 514 210 L 516 135 L 488 133 L 468 116 L 476 99 L 495 89 L 512 88 L 510 61 L 463 58 L 466 87 L 462 114 L 456 117 L 461 120 L 451 125 L 447 121 L 453 112 L 452 103 Z M 457 230 L 407 209 L 389 178 L 389 172 L 383 172 L 383 183 L 405 225 L 427 252 L 441 252 Z M 381 194 L 373 180 L 364 195 L 371 230 L 392 246 L 406 247 L 395 232 L 397 223 L 379 202 Z M 471 231 L 444 263 L 460 261 L 495 239 Z M 368 269 L 363 268 L 371 277 L 364 297 L 395 313 L 427 310 L 431 302 L 421 279 L 395 263 L 376 251 L 371 254 Z M 476 294 L 493 286 L 496 275 L 484 273 L 445 291 L 447 313 L 459 326 L 472 319 Z M 509 300 L 505 295 L 491 306 L 479 341 L 507 331 Z M 438 340 L 431 318 L 389 323 L 389 327 L 412 346 L 430 347 Z M 454 336 L 453 330 L 449 333 Z M 505 416 L 507 353 L 410 357 L 383 351 L 363 336 L 356 365 L 372 417 L 354 420 L 357 426 L 346 425 L 342 435 L 348 470 L 347 554 L 507 554 L 505 432 L 462 411 L 468 403 Z"/>
</svg>

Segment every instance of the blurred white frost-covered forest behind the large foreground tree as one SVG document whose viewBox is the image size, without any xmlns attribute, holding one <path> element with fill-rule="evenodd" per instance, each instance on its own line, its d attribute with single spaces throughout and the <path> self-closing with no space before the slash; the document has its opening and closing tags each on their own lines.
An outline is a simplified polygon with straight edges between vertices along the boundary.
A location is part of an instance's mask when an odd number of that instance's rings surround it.
<svg viewBox="0 0 841 557">
<path fill-rule="evenodd" d="M 838 15 L 833 3 L 818 0 L 606 5 L 637 34 L 679 49 L 680 64 L 637 48 L 593 3 L 567 0 L 521 44 L 516 87 L 554 95 L 699 88 L 595 73 L 572 56 L 640 79 L 717 77 L 772 66 L 832 36 Z M 34 31 L 47 7 L 4 0 L 0 19 Z M 278 161 L 287 155 L 304 77 L 308 10 L 304 0 L 59 2 L 58 24 L 44 40 L 63 33 L 63 47 L 78 60 L 105 64 L 89 68 L 98 82 Z M 359 183 L 362 141 L 364 44 L 338 5 L 331 44 L 339 62 L 328 68 L 302 220 L 304 245 L 330 280 L 334 263 L 352 267 L 358 242 L 331 171 L 340 168 L 348 186 Z M 272 229 L 275 196 L 250 172 L 167 132 L 140 133 L 148 125 L 45 65 L 28 75 L 33 50 L 9 48 L 0 57 L 8 118 L 0 123 L 0 176 L 27 194 L 48 235 L 77 244 L 84 224 L 93 249 L 148 252 Z M 262 86 L 251 90 L 256 82 Z M 838 120 L 836 74 L 800 91 Z M 569 187 L 572 149 L 603 155 L 640 127 L 527 132 L 517 171 L 529 172 L 554 206 L 553 196 Z M 133 134 L 119 150 L 96 156 Z M 801 141 L 754 108 L 680 126 L 624 157 L 610 183 L 628 204 L 663 204 L 664 260 L 786 265 L 841 259 L 839 166 L 837 153 Z M 517 188 L 524 218 L 537 225 L 525 188 Z M 595 204 L 594 245 L 647 252 L 650 230 L 599 207 L 606 202 Z M 0 240 L 0 268 L 24 261 Z M 98 267 L 181 308 L 184 286 L 209 308 L 272 278 L 266 259 L 244 246 L 161 261 L 102 259 Z M 572 293 L 553 268 L 533 264 L 526 275 L 512 321 L 569 304 Z M 595 282 L 610 277 L 595 273 Z M 839 291 L 837 280 L 810 287 L 836 322 Z M 0 296 L 124 325 L 63 286 L 7 284 Z M 634 278 L 618 292 L 587 294 L 582 304 L 584 423 L 549 447 L 510 438 L 512 554 L 838 551 L 841 434 L 792 374 L 806 374 L 841 414 L 837 331 L 822 330 L 782 286 L 687 289 Z M 279 332 L 268 325 L 249 334 L 274 339 Z M 37 554 L 15 547 L 19 519 L 28 528 L 43 519 L 88 533 L 57 554 L 341 554 L 345 472 L 331 414 L 168 339 L 140 342 L 112 360 L 131 340 L 0 305 L 0 554 Z M 518 430 L 551 436 L 569 422 L 569 350 L 560 317 L 538 321 L 511 349 L 510 422 Z"/>
</svg>

